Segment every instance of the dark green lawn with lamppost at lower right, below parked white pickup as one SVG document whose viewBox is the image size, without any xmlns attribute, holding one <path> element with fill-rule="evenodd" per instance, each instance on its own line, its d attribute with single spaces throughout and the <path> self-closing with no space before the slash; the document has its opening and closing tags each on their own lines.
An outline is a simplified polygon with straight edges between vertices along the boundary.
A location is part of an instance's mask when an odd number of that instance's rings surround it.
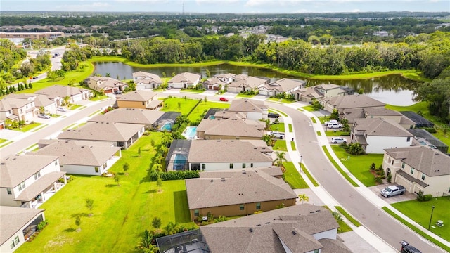
<svg viewBox="0 0 450 253">
<path fill-rule="evenodd" d="M 391 206 L 427 229 L 430 223 L 431 209 L 432 206 L 434 206 L 435 209 L 433 210 L 431 225 L 435 226 L 435 228 L 430 228 L 430 231 L 432 231 L 432 233 L 439 235 L 445 240 L 450 241 L 450 226 L 447 226 L 450 223 L 449 197 L 433 197 L 432 200 L 427 202 L 418 202 L 417 200 L 410 200 L 394 203 Z M 444 226 L 441 228 L 436 226 L 435 223 L 437 220 L 444 221 Z"/>
</svg>

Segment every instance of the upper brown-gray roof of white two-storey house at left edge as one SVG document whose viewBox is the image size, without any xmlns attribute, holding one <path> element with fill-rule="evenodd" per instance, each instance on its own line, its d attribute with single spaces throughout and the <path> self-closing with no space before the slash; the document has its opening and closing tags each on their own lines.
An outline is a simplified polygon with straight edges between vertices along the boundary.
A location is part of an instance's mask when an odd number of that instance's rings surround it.
<svg viewBox="0 0 450 253">
<path fill-rule="evenodd" d="M 53 155 L 15 155 L 2 159 L 0 187 L 14 188 L 57 159 Z"/>
</svg>

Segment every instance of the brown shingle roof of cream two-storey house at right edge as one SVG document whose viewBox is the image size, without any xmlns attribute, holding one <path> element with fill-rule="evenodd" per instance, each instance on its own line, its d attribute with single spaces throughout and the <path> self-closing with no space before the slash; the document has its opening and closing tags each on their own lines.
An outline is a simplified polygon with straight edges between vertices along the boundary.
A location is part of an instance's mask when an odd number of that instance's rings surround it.
<svg viewBox="0 0 450 253">
<path fill-rule="evenodd" d="M 450 174 L 450 157 L 438 150 L 423 146 L 409 148 L 388 148 L 387 155 L 400 159 L 409 166 L 423 172 L 427 176 L 443 176 Z"/>
</svg>

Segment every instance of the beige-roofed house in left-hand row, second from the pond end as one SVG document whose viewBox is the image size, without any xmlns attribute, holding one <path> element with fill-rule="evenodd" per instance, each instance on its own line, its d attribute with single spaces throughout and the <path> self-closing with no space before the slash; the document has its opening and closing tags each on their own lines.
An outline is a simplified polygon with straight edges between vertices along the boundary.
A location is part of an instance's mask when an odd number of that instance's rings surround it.
<svg viewBox="0 0 450 253">
<path fill-rule="evenodd" d="M 68 102 L 70 103 L 77 103 L 92 96 L 92 91 L 89 91 L 89 89 L 78 89 L 63 85 L 49 86 L 39 91 L 34 91 L 34 93 L 47 96 L 47 98 L 56 103 L 56 107 L 62 105 L 65 98 L 69 98 Z"/>
</svg>

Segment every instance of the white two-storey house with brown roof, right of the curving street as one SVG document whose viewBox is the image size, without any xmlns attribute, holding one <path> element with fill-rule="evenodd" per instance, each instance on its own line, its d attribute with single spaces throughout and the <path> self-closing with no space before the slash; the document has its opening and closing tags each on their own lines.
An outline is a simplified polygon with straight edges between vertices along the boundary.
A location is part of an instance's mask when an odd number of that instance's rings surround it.
<svg viewBox="0 0 450 253">
<path fill-rule="evenodd" d="M 382 154 L 385 148 L 404 148 L 412 144 L 413 135 L 391 119 L 354 119 L 352 143 L 359 143 L 368 154 Z"/>
</svg>

